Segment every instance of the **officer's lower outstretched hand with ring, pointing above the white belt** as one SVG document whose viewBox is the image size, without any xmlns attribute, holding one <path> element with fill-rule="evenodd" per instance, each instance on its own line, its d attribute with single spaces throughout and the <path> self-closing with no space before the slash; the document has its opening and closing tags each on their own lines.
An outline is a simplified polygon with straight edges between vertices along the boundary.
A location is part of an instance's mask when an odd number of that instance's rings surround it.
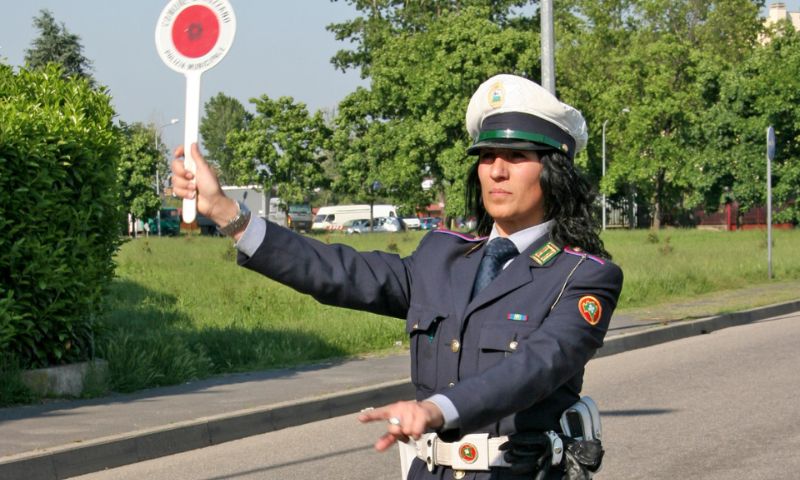
<svg viewBox="0 0 800 480">
<path fill-rule="evenodd" d="M 381 408 L 362 411 L 361 423 L 385 421 L 386 433 L 375 442 L 375 450 L 383 452 L 398 440 L 419 439 L 428 429 L 444 424 L 442 411 L 433 402 L 397 402 Z"/>
</svg>

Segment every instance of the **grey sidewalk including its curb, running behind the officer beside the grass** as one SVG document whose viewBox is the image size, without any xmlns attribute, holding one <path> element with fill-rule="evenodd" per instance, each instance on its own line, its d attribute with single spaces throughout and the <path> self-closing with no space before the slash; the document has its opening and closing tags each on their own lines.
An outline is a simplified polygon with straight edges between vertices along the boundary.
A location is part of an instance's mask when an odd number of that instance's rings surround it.
<svg viewBox="0 0 800 480">
<path fill-rule="evenodd" d="M 620 314 L 598 356 L 795 311 L 800 301 L 692 321 Z M 408 363 L 403 352 L 0 409 L 0 480 L 69 478 L 410 399 Z"/>
</svg>

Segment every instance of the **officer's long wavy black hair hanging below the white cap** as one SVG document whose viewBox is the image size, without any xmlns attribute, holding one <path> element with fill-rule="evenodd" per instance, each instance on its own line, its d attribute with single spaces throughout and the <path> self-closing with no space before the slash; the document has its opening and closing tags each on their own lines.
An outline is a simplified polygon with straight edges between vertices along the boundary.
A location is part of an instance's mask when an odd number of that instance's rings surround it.
<svg viewBox="0 0 800 480">
<path fill-rule="evenodd" d="M 611 259 L 600 239 L 600 228 L 591 207 L 594 194 L 572 160 L 558 150 L 539 152 L 542 173 L 539 182 L 544 195 L 544 218 L 554 220 L 550 240 L 563 248 L 580 247 L 592 255 Z M 488 235 L 494 220 L 483 206 L 478 163 L 467 176 L 467 209 L 477 219 L 478 235 Z"/>
</svg>

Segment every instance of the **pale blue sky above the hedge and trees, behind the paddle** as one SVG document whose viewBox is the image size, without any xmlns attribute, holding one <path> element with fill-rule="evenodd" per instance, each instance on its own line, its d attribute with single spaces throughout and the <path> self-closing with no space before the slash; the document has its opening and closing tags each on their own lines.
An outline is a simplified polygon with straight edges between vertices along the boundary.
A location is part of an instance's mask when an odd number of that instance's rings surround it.
<svg viewBox="0 0 800 480">
<path fill-rule="evenodd" d="M 46 8 L 79 35 L 93 75 L 109 87 L 119 118 L 127 121 L 183 122 L 183 75 L 167 68 L 155 49 L 156 21 L 166 0 L 0 0 L 0 58 L 21 65 L 38 32 L 33 17 Z M 232 0 L 236 39 L 227 56 L 203 75 L 202 104 L 222 91 L 249 107 L 249 99 L 283 95 L 311 111 L 332 108 L 364 85 L 355 72 L 330 63 L 347 45 L 325 30 L 332 22 L 356 16 L 345 1 Z M 183 126 L 163 129 L 172 147 L 182 142 Z"/>
</svg>

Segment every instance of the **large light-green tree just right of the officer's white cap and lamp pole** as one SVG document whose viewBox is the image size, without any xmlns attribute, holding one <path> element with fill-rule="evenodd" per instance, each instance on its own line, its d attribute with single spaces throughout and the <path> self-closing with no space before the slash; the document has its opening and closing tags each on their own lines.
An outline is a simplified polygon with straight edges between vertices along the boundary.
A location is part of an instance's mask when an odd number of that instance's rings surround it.
<svg viewBox="0 0 800 480">
<path fill-rule="evenodd" d="M 709 184 L 697 158 L 703 146 L 697 127 L 719 98 L 720 75 L 754 48 L 761 3 L 575 2 L 574 18 L 585 28 L 565 32 L 560 63 L 580 66 L 567 69 L 565 97 L 579 99 L 594 131 L 606 121 L 613 127 L 608 146 L 615 155 L 603 188 L 632 186 L 649 199 L 656 228 L 676 215 L 676 206 L 703 200 L 698 193 Z M 623 117 L 624 108 L 630 113 Z M 594 135 L 589 148 L 595 159 L 599 141 Z"/>
</svg>

